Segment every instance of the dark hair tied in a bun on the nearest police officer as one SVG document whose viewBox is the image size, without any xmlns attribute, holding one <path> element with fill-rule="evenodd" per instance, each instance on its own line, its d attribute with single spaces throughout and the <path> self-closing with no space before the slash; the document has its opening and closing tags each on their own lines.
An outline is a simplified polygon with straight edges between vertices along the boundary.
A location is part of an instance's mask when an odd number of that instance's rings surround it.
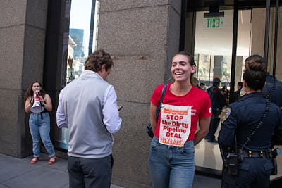
<svg viewBox="0 0 282 188">
<path fill-rule="evenodd" d="M 243 80 L 247 83 L 247 87 L 258 91 L 262 90 L 264 87 L 265 80 L 266 80 L 266 63 L 260 61 L 259 58 L 247 58 L 249 59 L 249 63 L 245 73 L 243 75 Z M 246 59 L 246 61 L 247 61 Z"/>
</svg>

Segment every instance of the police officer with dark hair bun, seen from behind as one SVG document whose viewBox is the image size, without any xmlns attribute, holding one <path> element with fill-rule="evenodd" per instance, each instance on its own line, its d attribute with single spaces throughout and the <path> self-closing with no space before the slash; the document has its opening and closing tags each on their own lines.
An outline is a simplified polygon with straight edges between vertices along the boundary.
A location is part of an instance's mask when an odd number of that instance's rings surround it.
<svg viewBox="0 0 282 188">
<path fill-rule="evenodd" d="M 261 93 L 266 65 L 249 60 L 252 63 L 243 75 L 246 95 L 226 109 L 219 132 L 219 145 L 226 151 L 221 156 L 227 166 L 222 187 L 269 187 L 273 168 L 269 148 L 282 144 L 281 110 Z"/>
</svg>

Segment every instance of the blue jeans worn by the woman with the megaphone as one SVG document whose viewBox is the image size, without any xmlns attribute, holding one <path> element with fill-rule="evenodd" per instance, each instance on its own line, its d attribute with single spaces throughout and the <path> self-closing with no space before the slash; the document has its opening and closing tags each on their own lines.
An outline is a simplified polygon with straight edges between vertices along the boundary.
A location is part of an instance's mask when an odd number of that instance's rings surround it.
<svg viewBox="0 0 282 188">
<path fill-rule="evenodd" d="M 43 118 L 43 119 L 42 119 Z M 50 116 L 49 113 L 30 114 L 30 134 L 33 142 L 33 156 L 40 156 L 40 137 L 49 157 L 55 155 L 53 144 L 50 140 Z"/>
</svg>

